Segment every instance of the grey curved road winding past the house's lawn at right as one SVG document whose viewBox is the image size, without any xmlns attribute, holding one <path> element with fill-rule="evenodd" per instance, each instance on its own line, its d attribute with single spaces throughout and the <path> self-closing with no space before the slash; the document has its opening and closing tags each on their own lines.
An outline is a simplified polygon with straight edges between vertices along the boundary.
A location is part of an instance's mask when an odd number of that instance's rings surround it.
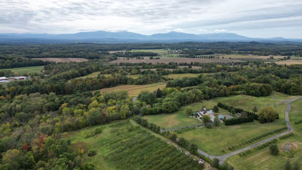
<svg viewBox="0 0 302 170">
<path fill-rule="evenodd" d="M 243 151 L 246 151 L 246 150 L 249 150 L 249 149 L 251 149 L 251 148 L 254 148 L 254 147 L 256 147 L 256 146 L 258 146 L 258 145 L 261 145 L 261 144 L 263 144 L 263 143 L 265 143 L 265 142 L 268 142 L 268 141 L 270 141 L 270 140 L 272 140 L 272 139 L 275 139 L 275 138 L 277 138 L 277 137 L 280 137 L 280 136 L 283 136 L 283 135 L 285 135 L 285 134 L 287 134 L 287 133 L 290 133 L 290 132 L 292 131 L 292 127 L 291 127 L 291 125 L 290 125 L 290 123 L 289 123 L 289 118 L 288 118 L 288 112 L 289 112 L 289 109 L 290 109 L 289 103 L 290 103 L 290 102 L 293 102 L 293 101 L 295 101 L 295 100 L 298 100 L 298 99 L 300 99 L 300 98 L 302 98 L 302 96 L 297 97 L 297 98 L 292 99 L 292 100 L 289 100 L 289 101 L 286 101 L 286 104 L 287 104 L 286 111 L 285 111 L 285 121 L 286 121 L 286 125 L 287 125 L 287 131 L 286 131 L 286 132 L 277 134 L 277 135 L 275 135 L 275 136 L 272 136 L 272 137 L 269 137 L 269 138 L 267 138 L 267 139 L 264 139 L 264 140 L 262 140 L 262 141 L 260 141 L 260 142 L 254 143 L 254 144 L 252 144 L 252 145 L 250 145 L 250 146 L 247 146 L 247 147 L 245 147 L 245 148 L 236 150 L 236 151 L 234 151 L 234 152 L 231 152 L 231 153 L 228 153 L 228 154 L 225 154 L 225 155 L 222 155 L 222 156 L 213 156 L 213 155 L 209 155 L 208 153 L 206 153 L 206 152 L 204 152 L 204 151 L 202 151 L 202 150 L 199 150 L 199 149 L 197 150 L 197 152 L 198 152 L 199 154 L 202 154 L 202 155 L 206 156 L 206 157 L 209 157 L 211 160 L 213 160 L 214 158 L 218 158 L 218 159 L 220 160 L 219 163 L 222 164 L 222 163 L 224 162 L 224 160 L 225 160 L 226 158 L 228 158 L 228 157 L 234 156 L 234 155 L 236 155 L 236 154 L 238 154 L 238 153 L 241 153 L 241 152 L 243 152 Z"/>
</svg>

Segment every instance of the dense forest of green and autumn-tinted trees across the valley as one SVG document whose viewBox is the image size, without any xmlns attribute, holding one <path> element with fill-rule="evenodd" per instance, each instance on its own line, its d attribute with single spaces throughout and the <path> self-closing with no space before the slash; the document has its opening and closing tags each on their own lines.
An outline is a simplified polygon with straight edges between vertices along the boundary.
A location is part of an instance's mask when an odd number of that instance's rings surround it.
<svg viewBox="0 0 302 170">
<path fill-rule="evenodd" d="M 0 63 L 5 63 L 0 66 L 3 68 L 45 65 L 40 73 L 30 74 L 29 80 L 0 84 L 0 169 L 94 169 L 93 164 L 84 161 L 82 154 L 69 149 L 70 141 L 62 137 L 63 132 L 107 124 L 140 114 L 173 113 L 182 106 L 217 97 L 263 97 L 269 96 L 273 91 L 302 95 L 302 65 L 277 65 L 259 61 L 235 63 L 234 67 L 226 63 L 199 62 L 155 65 L 108 63 L 117 58 L 116 54 L 110 54 L 108 50 L 132 49 L 134 46 L 137 49 L 153 49 L 158 48 L 159 44 L 0 45 Z M 206 46 L 210 46 L 209 49 L 215 53 L 226 49 L 233 51 L 235 48 L 243 53 L 263 52 L 262 48 L 270 54 L 291 52 L 300 55 L 301 52 L 300 46 L 290 45 L 287 48 L 286 44 L 253 42 L 175 43 L 166 44 L 165 48 L 187 47 L 190 50 Z M 136 54 L 133 52 L 127 55 L 134 57 Z M 156 56 L 154 53 L 148 55 Z M 55 63 L 29 59 L 32 57 L 82 57 L 91 60 Z M 18 65 L 17 61 L 23 64 Z M 180 65 L 201 68 L 178 68 Z M 94 72 L 99 72 L 98 76 L 81 78 Z M 183 78 L 165 76 L 182 73 L 199 75 Z M 14 73 L 8 70 L 0 70 L 0 76 L 12 74 Z M 132 100 L 126 91 L 99 91 L 122 84 L 155 82 L 167 83 L 166 88 L 154 92 L 142 91 L 136 100 Z M 222 104 L 220 107 L 226 108 Z M 247 120 L 238 121 L 253 121 L 256 117 L 251 112 Z M 134 119 L 140 123 L 143 121 L 137 117 Z M 156 125 L 143 126 L 159 132 Z M 184 146 L 190 147 L 187 144 Z M 117 153 L 117 156 L 121 157 L 122 154 Z M 113 157 L 109 156 L 108 159 L 113 160 Z M 187 164 L 186 166 L 189 167 Z"/>
</svg>

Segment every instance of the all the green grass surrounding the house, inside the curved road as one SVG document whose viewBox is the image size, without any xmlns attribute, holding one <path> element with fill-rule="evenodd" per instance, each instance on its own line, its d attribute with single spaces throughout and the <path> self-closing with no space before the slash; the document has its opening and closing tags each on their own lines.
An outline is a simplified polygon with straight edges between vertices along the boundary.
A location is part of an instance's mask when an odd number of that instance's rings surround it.
<svg viewBox="0 0 302 170">
<path fill-rule="evenodd" d="M 245 141 L 248 141 L 258 135 L 262 135 L 264 133 L 274 131 L 275 129 L 286 126 L 284 120 L 286 103 L 277 100 L 289 100 L 294 97 L 283 95 L 277 92 L 274 92 L 272 95 L 274 95 L 276 99 L 273 99 L 271 96 L 257 98 L 246 95 L 238 95 L 214 98 L 208 101 L 203 101 L 202 103 L 194 103 L 190 105 L 194 111 L 201 110 L 203 106 L 207 109 L 212 109 L 218 102 L 222 102 L 234 107 L 240 107 L 247 111 L 252 111 L 255 106 L 262 108 L 269 105 L 278 111 L 280 118 L 272 123 L 260 124 L 258 121 L 254 121 L 251 123 L 233 126 L 220 125 L 219 127 L 213 127 L 212 129 L 202 127 L 190 131 L 185 131 L 179 134 L 179 136 L 185 137 L 189 142 L 197 144 L 199 149 L 203 151 L 209 151 L 210 154 L 213 155 L 223 155 L 225 153 L 229 153 L 242 147 L 248 146 L 252 143 L 244 143 Z M 168 128 L 169 126 L 171 128 L 184 127 L 200 123 L 200 121 L 186 116 L 186 114 L 184 113 L 184 108 L 185 107 L 182 107 L 180 111 L 172 114 L 146 115 L 143 116 L 143 118 L 147 119 L 148 122 L 160 125 L 165 128 Z M 230 113 L 224 109 L 219 108 L 217 114 Z M 268 136 L 273 135 L 275 134 Z M 257 139 L 253 141 L 253 143 L 265 138 Z M 231 146 L 235 146 L 235 149 L 230 150 L 229 147 Z"/>
</svg>

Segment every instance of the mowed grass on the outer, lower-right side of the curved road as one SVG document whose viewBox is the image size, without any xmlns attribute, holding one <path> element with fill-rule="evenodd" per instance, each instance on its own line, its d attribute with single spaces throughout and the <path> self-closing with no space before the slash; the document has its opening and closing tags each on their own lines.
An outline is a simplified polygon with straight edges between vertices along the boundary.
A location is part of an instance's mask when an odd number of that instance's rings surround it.
<svg viewBox="0 0 302 170">
<path fill-rule="evenodd" d="M 281 146 L 285 143 L 292 143 L 297 146 L 293 157 L 289 158 L 283 153 L 277 156 L 271 155 L 267 147 L 261 150 L 252 149 L 252 153 L 246 156 L 235 155 L 226 159 L 226 161 L 231 161 L 231 164 L 236 169 L 283 169 L 287 159 L 291 163 L 299 162 L 300 166 L 302 166 L 302 124 L 294 124 L 298 120 L 302 120 L 302 99 L 290 103 L 289 121 L 293 127 L 292 133 L 294 135 L 286 139 L 278 139 L 276 143 L 280 151 L 282 149 Z"/>
</svg>

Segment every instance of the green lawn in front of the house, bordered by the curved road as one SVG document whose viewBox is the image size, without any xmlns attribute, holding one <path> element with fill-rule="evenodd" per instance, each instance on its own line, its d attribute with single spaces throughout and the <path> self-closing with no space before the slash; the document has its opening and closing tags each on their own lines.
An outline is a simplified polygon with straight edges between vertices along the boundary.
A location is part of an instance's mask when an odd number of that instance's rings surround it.
<svg viewBox="0 0 302 170">
<path fill-rule="evenodd" d="M 258 121 L 254 121 L 233 126 L 220 125 L 212 129 L 202 127 L 183 132 L 178 136 L 186 138 L 190 143 L 195 143 L 199 149 L 209 152 L 210 154 L 223 155 L 252 144 L 243 144 L 245 141 L 284 127 L 282 122 L 282 120 L 277 120 L 273 123 L 260 124 Z M 265 138 L 261 138 L 257 141 Z M 256 141 L 253 141 L 253 143 L 255 142 Z M 233 150 L 229 150 L 228 148 L 231 146 L 237 147 Z"/>
</svg>

